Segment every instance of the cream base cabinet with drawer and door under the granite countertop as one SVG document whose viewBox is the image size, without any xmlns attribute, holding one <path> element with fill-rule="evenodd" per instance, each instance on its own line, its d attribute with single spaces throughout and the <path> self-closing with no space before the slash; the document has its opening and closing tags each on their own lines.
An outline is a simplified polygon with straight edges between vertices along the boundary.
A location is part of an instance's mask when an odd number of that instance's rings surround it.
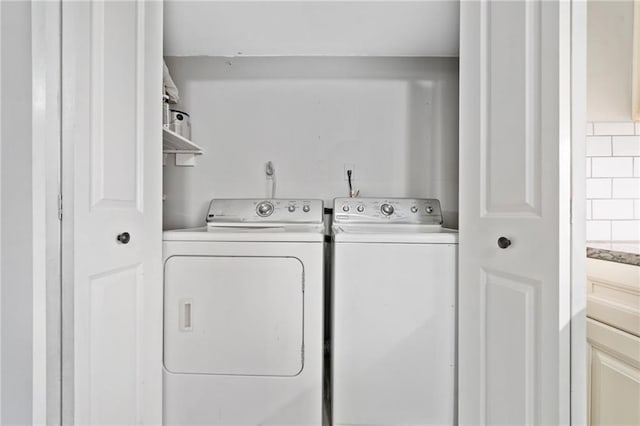
<svg viewBox="0 0 640 426">
<path fill-rule="evenodd" d="M 587 259 L 589 422 L 640 424 L 640 267 Z"/>
</svg>

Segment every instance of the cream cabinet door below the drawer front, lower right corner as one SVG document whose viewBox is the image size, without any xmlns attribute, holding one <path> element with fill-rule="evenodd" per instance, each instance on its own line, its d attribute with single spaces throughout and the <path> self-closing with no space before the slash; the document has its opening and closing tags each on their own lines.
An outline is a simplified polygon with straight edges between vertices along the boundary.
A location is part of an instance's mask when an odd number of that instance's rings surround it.
<svg viewBox="0 0 640 426">
<path fill-rule="evenodd" d="M 640 424 L 640 338 L 587 320 L 589 424 Z"/>
</svg>

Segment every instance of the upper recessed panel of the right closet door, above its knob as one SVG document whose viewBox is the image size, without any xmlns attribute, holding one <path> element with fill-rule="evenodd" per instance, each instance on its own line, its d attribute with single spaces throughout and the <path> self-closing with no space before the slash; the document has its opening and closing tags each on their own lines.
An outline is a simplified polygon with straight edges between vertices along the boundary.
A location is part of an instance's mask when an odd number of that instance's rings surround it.
<svg viewBox="0 0 640 426">
<path fill-rule="evenodd" d="M 483 214 L 537 216 L 541 185 L 540 2 L 487 1 L 481 8 Z"/>
</svg>

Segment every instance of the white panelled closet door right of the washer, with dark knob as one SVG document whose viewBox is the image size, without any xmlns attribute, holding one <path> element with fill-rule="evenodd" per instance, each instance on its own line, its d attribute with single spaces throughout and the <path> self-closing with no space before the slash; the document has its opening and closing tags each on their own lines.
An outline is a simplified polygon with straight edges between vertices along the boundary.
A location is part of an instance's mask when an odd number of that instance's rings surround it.
<svg viewBox="0 0 640 426">
<path fill-rule="evenodd" d="M 459 421 L 568 424 L 570 3 L 460 8 Z"/>
</svg>

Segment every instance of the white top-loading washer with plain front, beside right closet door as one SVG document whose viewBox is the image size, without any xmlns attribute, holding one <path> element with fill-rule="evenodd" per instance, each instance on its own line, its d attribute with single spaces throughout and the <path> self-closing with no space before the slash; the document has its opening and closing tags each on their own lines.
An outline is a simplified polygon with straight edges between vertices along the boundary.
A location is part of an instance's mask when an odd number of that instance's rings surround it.
<svg viewBox="0 0 640 426">
<path fill-rule="evenodd" d="M 453 425 L 455 230 L 438 200 L 338 198 L 333 424 Z"/>
</svg>

